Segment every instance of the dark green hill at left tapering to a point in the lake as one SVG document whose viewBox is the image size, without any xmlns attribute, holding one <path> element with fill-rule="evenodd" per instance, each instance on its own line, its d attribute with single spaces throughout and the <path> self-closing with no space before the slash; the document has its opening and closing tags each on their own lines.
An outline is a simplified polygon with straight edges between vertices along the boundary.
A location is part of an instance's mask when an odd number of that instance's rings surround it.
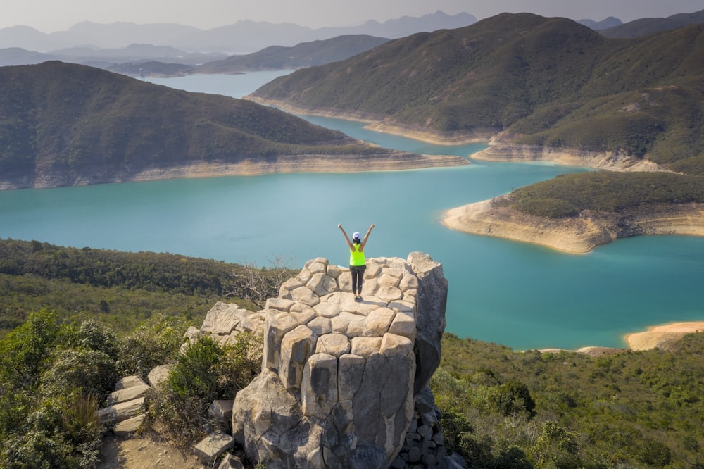
<svg viewBox="0 0 704 469">
<path fill-rule="evenodd" d="M 129 180 L 145 170 L 389 155 L 251 101 L 82 65 L 0 68 L 0 188 Z"/>
</svg>

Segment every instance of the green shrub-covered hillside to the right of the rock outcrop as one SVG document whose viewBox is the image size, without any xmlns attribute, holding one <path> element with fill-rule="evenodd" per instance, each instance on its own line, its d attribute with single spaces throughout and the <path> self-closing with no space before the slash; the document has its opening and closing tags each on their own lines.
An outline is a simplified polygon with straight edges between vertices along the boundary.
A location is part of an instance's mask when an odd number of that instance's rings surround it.
<svg viewBox="0 0 704 469">
<path fill-rule="evenodd" d="M 470 468 L 704 467 L 704 335 L 586 356 L 443 338 L 431 387 Z"/>
</svg>

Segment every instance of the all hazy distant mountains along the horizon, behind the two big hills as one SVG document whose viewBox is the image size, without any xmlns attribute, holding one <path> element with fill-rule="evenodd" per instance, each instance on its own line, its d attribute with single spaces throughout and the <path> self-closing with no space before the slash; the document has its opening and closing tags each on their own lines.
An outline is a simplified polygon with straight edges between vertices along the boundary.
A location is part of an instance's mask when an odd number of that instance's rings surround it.
<svg viewBox="0 0 704 469">
<path fill-rule="evenodd" d="M 704 11 L 700 11 L 625 24 L 613 17 L 577 23 L 607 37 L 636 37 L 702 23 L 703 17 Z M 356 27 L 319 29 L 249 20 L 211 30 L 177 24 L 84 22 L 66 31 L 44 34 L 16 26 L 0 29 L 0 66 L 58 60 L 139 76 L 301 68 L 344 60 L 387 39 L 456 29 L 476 21 L 469 13 L 436 11 L 419 18 L 404 16 L 384 23 L 370 20 Z M 338 39 L 331 41 L 333 38 Z"/>
</svg>

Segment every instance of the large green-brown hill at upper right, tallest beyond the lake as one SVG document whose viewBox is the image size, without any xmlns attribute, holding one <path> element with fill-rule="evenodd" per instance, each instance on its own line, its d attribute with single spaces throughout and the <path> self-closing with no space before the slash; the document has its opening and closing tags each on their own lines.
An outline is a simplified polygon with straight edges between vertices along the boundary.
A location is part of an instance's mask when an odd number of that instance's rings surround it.
<svg viewBox="0 0 704 469">
<path fill-rule="evenodd" d="M 439 137 L 506 131 L 667 163 L 704 153 L 704 25 L 608 39 L 565 18 L 504 13 L 298 70 L 252 97 Z"/>
</svg>

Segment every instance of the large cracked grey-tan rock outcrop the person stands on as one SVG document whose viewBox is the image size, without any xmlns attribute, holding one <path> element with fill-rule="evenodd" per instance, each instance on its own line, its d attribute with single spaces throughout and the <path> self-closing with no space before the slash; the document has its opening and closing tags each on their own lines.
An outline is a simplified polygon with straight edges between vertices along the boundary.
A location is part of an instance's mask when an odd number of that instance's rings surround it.
<svg viewBox="0 0 704 469">
<path fill-rule="evenodd" d="M 348 270 L 317 258 L 268 300 L 262 372 L 232 414 L 253 461 L 386 468 L 417 427 L 445 327 L 442 266 L 421 253 L 370 259 L 364 300 L 350 291 Z"/>
</svg>

